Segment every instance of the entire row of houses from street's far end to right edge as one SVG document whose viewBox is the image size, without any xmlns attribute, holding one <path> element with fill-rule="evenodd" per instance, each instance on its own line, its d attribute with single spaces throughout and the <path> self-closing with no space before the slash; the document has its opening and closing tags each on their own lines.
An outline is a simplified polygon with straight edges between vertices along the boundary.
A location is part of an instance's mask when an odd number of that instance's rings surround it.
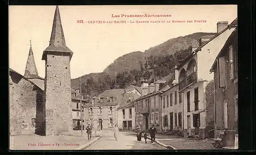
<svg viewBox="0 0 256 155">
<path fill-rule="evenodd" d="M 154 124 L 158 133 L 203 139 L 225 131 L 223 145 L 232 146 L 238 132 L 237 58 L 237 19 L 218 22 L 217 33 L 202 36 L 169 75 L 151 84 L 142 79 L 136 96 L 124 97 L 127 92 L 117 89 L 92 98 L 84 106 L 86 121 L 122 130 Z"/>
</svg>

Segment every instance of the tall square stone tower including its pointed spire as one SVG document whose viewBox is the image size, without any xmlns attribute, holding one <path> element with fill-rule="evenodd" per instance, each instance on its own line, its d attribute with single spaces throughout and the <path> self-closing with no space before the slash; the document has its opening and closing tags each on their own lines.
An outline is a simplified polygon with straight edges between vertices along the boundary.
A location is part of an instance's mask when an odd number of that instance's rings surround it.
<svg viewBox="0 0 256 155">
<path fill-rule="evenodd" d="M 42 54 L 46 62 L 45 116 L 46 136 L 68 135 L 72 130 L 70 60 L 73 52 L 66 46 L 59 8 L 56 6 L 49 46 Z"/>
</svg>

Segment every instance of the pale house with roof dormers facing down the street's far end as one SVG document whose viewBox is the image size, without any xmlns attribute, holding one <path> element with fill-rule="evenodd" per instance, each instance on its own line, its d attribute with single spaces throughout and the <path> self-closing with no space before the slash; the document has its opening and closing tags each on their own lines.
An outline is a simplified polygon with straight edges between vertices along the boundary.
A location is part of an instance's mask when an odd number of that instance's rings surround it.
<svg viewBox="0 0 256 155">
<path fill-rule="evenodd" d="M 92 97 L 90 102 L 83 106 L 86 124 L 91 124 L 98 130 L 113 128 L 115 124 L 119 125 L 117 110 L 126 93 L 140 95 L 135 87 L 130 86 L 129 89 L 105 90 L 99 96 Z"/>
</svg>

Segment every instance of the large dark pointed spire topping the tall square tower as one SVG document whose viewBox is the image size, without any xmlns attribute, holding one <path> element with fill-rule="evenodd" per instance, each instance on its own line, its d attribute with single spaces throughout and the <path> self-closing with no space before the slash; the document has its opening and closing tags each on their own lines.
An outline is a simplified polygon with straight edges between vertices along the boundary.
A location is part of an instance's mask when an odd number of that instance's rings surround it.
<svg viewBox="0 0 256 155">
<path fill-rule="evenodd" d="M 65 37 L 62 29 L 58 6 L 56 6 L 55 14 L 53 18 L 50 43 L 49 43 L 49 46 L 44 50 L 44 53 L 42 54 L 42 60 L 46 60 L 46 55 L 49 52 L 69 53 L 70 59 L 73 55 L 73 52 L 66 46 L 66 41 L 65 41 Z"/>
</svg>

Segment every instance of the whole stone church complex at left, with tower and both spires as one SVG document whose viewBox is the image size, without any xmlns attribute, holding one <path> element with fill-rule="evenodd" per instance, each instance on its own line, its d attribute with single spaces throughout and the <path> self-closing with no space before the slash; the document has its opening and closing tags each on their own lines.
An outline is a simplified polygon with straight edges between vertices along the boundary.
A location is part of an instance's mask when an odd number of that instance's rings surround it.
<svg viewBox="0 0 256 155">
<path fill-rule="evenodd" d="M 72 55 L 66 46 L 57 6 L 50 43 L 42 55 L 46 61 L 45 79 L 38 76 L 31 45 L 24 76 L 12 69 L 9 71 L 10 135 L 71 134 Z"/>
</svg>

